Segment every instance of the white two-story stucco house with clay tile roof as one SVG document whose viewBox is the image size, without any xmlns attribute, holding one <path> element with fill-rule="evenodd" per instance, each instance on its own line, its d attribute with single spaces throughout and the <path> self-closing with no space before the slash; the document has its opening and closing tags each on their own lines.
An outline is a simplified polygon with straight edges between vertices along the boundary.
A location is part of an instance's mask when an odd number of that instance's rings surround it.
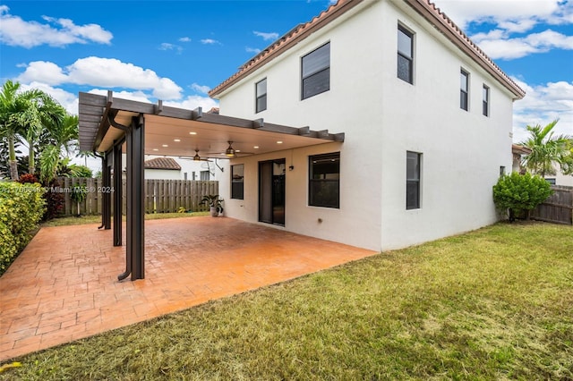
<svg viewBox="0 0 573 381">
<path fill-rule="evenodd" d="M 345 134 L 231 159 L 227 216 L 389 250 L 496 221 L 525 93 L 427 0 L 340 0 L 210 96 L 222 115 Z"/>
</svg>

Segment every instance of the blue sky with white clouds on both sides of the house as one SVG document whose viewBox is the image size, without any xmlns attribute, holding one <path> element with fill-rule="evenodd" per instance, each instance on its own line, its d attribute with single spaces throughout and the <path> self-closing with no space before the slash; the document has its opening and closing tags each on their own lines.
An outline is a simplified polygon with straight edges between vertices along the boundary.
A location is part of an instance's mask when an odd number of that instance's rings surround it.
<svg viewBox="0 0 573 381">
<path fill-rule="evenodd" d="M 366 0 L 371 1 L 371 0 Z M 0 79 L 44 89 L 77 113 L 78 92 L 209 109 L 207 91 L 329 0 L 2 1 Z M 560 118 L 573 134 L 573 0 L 435 0 L 525 89 L 514 141 Z"/>
</svg>

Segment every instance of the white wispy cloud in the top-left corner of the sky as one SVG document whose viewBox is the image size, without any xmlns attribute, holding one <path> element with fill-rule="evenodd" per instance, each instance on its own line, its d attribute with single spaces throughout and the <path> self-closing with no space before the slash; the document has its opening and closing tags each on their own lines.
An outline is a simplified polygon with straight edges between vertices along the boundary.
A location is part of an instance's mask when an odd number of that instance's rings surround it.
<svg viewBox="0 0 573 381">
<path fill-rule="evenodd" d="M 70 44 L 110 44 L 113 35 L 98 24 L 75 25 L 69 19 L 44 16 L 47 23 L 24 21 L 9 13 L 10 8 L 0 5 L 0 41 L 13 47 L 49 45 L 65 47 Z"/>
</svg>

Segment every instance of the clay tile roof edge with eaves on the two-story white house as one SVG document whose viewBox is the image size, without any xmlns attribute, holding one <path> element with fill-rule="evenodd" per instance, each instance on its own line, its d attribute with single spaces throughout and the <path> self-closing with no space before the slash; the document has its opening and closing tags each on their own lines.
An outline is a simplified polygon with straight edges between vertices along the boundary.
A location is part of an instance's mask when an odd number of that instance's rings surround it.
<svg viewBox="0 0 573 381">
<path fill-rule="evenodd" d="M 526 93 L 523 89 L 519 88 L 514 80 L 502 72 L 500 67 L 493 63 L 480 47 L 470 40 L 466 34 L 459 29 L 459 27 L 449 19 L 449 17 L 440 11 L 435 4 L 430 0 L 403 0 L 409 4 L 416 12 L 420 13 L 426 20 L 430 21 L 436 29 L 440 30 L 447 38 L 449 38 L 455 45 L 463 50 L 467 55 L 470 55 L 476 63 L 480 64 L 487 72 L 490 72 L 493 77 L 500 81 L 509 91 L 511 91 L 517 98 L 525 97 Z M 224 90 L 234 85 L 239 80 L 243 79 L 250 72 L 253 72 L 261 65 L 268 63 L 270 60 L 286 51 L 288 48 L 295 46 L 295 44 L 306 38 L 313 31 L 321 29 L 330 21 L 334 21 L 338 16 L 346 13 L 355 5 L 362 3 L 363 0 L 338 0 L 336 4 L 332 4 L 328 9 L 321 12 L 318 16 L 314 17 L 311 21 L 298 24 L 292 30 L 269 47 L 265 48 L 258 55 L 252 57 L 247 63 L 239 67 L 227 80 L 224 80 L 214 89 L 209 92 L 210 97 L 216 97 Z"/>
</svg>

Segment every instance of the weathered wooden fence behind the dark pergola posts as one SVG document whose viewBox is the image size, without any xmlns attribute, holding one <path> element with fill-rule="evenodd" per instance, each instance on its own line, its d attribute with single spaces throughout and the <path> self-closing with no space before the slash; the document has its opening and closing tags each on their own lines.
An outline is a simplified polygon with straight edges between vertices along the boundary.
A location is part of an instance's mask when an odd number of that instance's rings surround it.
<svg viewBox="0 0 573 381">
<path fill-rule="evenodd" d="M 75 216 L 78 213 L 77 204 L 70 198 L 73 186 L 84 185 L 87 188 L 86 199 L 80 203 L 81 215 L 100 215 L 101 200 L 104 189 L 101 179 L 91 178 L 59 178 L 61 190 L 64 192 L 64 216 Z M 122 204 L 125 213 L 125 180 L 123 180 Z M 192 212 L 208 211 L 209 205 L 201 204 L 205 195 L 218 194 L 218 182 L 199 182 L 191 180 L 146 180 L 145 181 L 145 213 L 174 213 L 180 207 Z"/>
</svg>

